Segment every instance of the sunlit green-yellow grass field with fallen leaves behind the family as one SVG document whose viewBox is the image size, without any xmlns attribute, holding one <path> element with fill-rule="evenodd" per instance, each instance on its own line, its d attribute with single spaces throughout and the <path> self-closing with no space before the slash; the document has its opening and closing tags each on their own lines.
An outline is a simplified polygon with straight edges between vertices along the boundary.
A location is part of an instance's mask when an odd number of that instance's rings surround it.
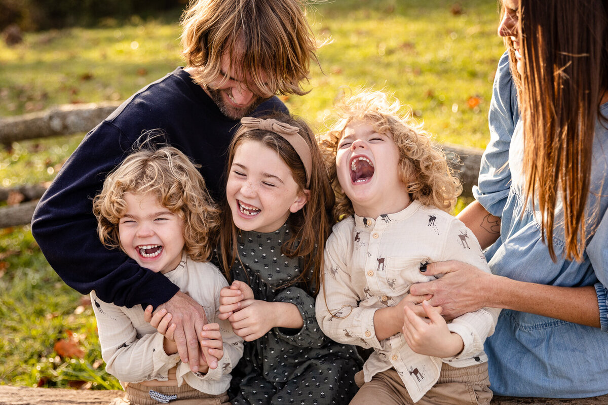
<svg viewBox="0 0 608 405">
<path fill-rule="evenodd" d="M 179 11 L 96 29 L 27 33 L 0 44 L 0 116 L 55 104 L 125 100 L 182 65 Z M 338 0 L 309 9 L 330 40 L 311 92 L 286 104 L 323 129 L 348 87 L 394 92 L 438 141 L 483 148 L 496 63 L 496 2 Z M 48 182 L 83 134 L 15 142 L 0 151 L 1 186 Z M 77 248 L 77 247 L 75 247 Z M 83 269 L 84 270 L 84 269 Z M 116 389 L 100 361 L 90 303 L 63 284 L 27 226 L 0 230 L 0 384 Z"/>
</svg>

